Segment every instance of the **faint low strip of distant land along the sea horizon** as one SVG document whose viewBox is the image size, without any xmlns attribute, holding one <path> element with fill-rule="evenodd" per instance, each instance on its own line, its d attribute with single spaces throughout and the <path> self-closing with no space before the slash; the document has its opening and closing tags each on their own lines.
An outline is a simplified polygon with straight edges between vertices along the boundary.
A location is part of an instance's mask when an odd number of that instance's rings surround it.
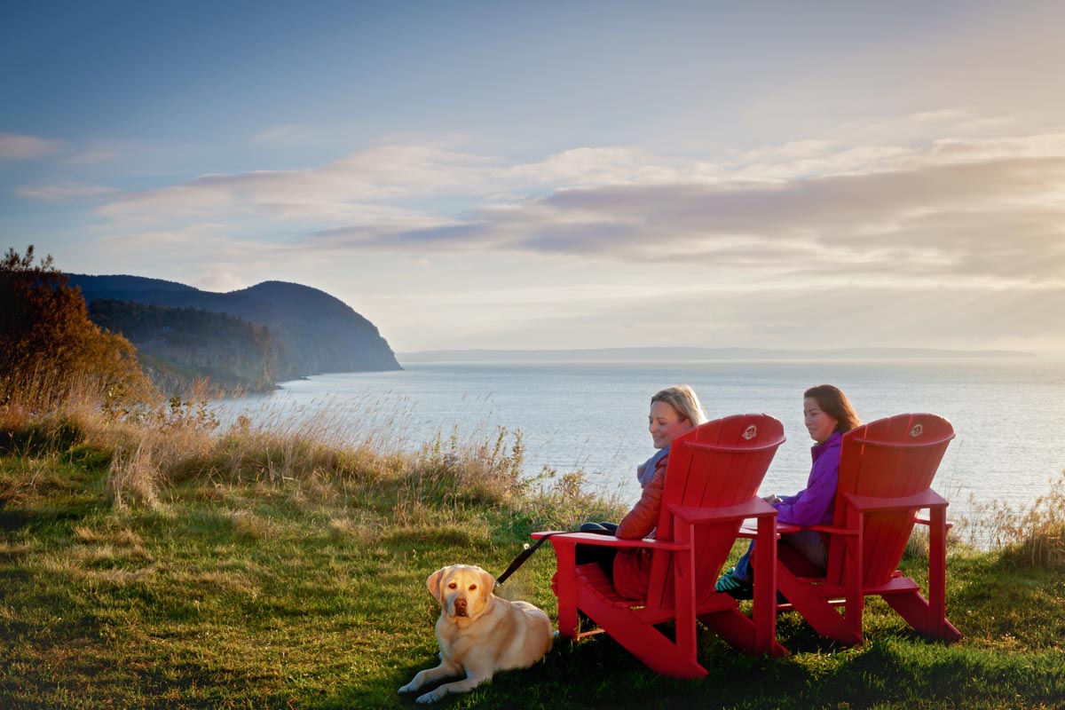
<svg viewBox="0 0 1065 710">
<path fill-rule="evenodd" d="M 1034 358 L 1019 350 L 940 350 L 932 348 L 770 348 L 641 347 L 574 350 L 421 350 L 398 352 L 400 362 L 698 362 L 704 360 L 898 360 L 922 358 Z"/>
</svg>

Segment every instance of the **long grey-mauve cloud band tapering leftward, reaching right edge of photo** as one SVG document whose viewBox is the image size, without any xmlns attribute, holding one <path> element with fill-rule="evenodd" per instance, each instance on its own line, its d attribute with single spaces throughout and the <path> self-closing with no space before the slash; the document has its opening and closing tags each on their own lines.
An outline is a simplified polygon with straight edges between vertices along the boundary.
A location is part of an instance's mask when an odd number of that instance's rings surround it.
<svg viewBox="0 0 1065 710">
<path fill-rule="evenodd" d="M 1065 278 L 1065 154 L 773 182 L 558 189 L 406 232 L 335 228 L 332 248 L 515 249 L 821 280 Z"/>
</svg>

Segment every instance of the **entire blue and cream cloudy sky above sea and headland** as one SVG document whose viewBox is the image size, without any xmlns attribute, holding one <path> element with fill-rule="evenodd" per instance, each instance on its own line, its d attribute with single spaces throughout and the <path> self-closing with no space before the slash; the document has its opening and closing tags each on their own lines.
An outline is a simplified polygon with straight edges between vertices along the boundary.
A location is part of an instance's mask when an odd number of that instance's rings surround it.
<svg viewBox="0 0 1065 710">
<path fill-rule="evenodd" d="M 0 1 L 0 248 L 398 352 L 1065 352 L 1065 3 Z"/>
</svg>

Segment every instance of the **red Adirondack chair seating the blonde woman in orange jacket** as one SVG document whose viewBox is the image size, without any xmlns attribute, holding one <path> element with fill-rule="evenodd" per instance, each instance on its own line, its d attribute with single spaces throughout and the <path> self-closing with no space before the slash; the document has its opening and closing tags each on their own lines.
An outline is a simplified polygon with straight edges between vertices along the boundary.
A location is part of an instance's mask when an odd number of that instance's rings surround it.
<svg viewBox="0 0 1065 710">
<path fill-rule="evenodd" d="M 775 638 L 776 511 L 755 495 L 783 442 L 783 426 L 765 414 L 709 422 L 673 440 L 655 540 L 553 533 L 559 633 L 577 638 L 579 609 L 649 667 L 681 678 L 706 675 L 697 659 L 697 618 L 738 648 L 786 654 Z M 751 517 L 758 524 L 754 564 L 763 580 L 755 588 L 753 617 L 714 590 L 740 525 Z M 578 543 L 652 549 L 648 598 L 624 598 L 599 564 L 576 564 Z M 669 621 L 676 623 L 675 639 L 655 628 Z"/>
</svg>

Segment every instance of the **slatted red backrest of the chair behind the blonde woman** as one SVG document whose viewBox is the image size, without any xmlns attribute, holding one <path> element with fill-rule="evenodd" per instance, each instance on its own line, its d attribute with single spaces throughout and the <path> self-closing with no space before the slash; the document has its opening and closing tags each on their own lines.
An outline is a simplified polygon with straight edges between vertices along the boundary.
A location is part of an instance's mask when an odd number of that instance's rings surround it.
<svg viewBox="0 0 1065 710">
<path fill-rule="evenodd" d="M 766 414 L 739 414 L 715 419 L 676 437 L 670 447 L 662 492 L 662 510 L 655 535 L 673 540 L 669 503 L 693 508 L 726 508 L 750 500 L 758 492 L 784 427 Z M 701 601 L 732 550 L 741 521 L 701 525 L 695 530 L 697 594 Z M 672 555 L 656 554 L 648 587 L 649 607 L 672 608 Z"/>
</svg>

